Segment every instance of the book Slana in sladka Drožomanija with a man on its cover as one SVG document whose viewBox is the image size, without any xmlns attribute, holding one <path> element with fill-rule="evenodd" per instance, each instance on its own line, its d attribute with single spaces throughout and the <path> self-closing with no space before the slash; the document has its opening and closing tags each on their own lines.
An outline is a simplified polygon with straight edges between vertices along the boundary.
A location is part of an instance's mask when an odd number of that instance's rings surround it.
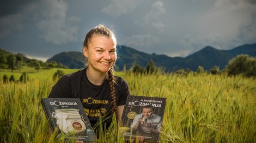
<svg viewBox="0 0 256 143">
<path fill-rule="evenodd" d="M 119 131 L 125 140 L 144 137 L 146 142 L 159 142 L 166 98 L 129 95 Z"/>
</svg>

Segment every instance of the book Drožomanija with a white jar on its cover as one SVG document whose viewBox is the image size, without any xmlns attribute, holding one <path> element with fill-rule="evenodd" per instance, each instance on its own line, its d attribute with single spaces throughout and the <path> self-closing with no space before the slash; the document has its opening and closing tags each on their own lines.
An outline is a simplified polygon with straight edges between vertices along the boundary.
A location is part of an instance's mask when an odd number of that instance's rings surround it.
<svg viewBox="0 0 256 143">
<path fill-rule="evenodd" d="M 57 135 L 62 134 L 65 141 L 97 141 L 80 99 L 43 98 L 41 105 L 52 131 L 57 129 Z"/>
</svg>

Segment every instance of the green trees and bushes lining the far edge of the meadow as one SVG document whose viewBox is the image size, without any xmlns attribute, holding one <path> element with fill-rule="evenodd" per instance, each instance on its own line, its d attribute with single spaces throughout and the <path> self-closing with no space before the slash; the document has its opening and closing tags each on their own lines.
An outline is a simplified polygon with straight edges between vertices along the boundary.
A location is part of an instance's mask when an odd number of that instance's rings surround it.
<svg viewBox="0 0 256 143">
<path fill-rule="evenodd" d="M 0 53 L 0 72 L 4 69 L 10 69 L 13 72 L 14 69 L 21 71 L 23 66 L 34 67 L 36 70 L 40 70 L 41 67 L 44 68 L 67 68 L 62 64 L 58 64 L 56 61 L 42 62 L 35 59 L 28 59 L 23 54 L 11 54 L 11 53 Z M 149 60 L 146 67 L 142 67 L 139 64 L 133 63 L 133 66 L 129 70 L 134 74 L 156 74 L 164 73 L 164 67 L 157 67 L 153 60 Z M 123 72 L 126 72 L 125 66 Z M 172 71 L 170 71 L 172 72 Z M 245 77 L 255 77 L 256 76 L 256 57 L 250 57 L 249 55 L 237 55 L 231 59 L 224 69 L 220 69 L 218 66 L 212 67 L 209 71 L 204 70 L 203 66 L 198 66 L 197 71 L 193 72 L 190 69 L 179 69 L 174 74 L 187 75 L 193 74 L 222 74 L 227 73 L 228 75 L 239 75 L 242 74 Z M 53 80 L 59 79 L 63 76 L 62 70 L 57 70 L 53 75 Z M 23 73 L 19 81 L 26 82 L 28 80 L 27 73 Z M 3 81 L 15 81 L 14 76 L 8 78 L 6 75 L 3 76 Z"/>
</svg>

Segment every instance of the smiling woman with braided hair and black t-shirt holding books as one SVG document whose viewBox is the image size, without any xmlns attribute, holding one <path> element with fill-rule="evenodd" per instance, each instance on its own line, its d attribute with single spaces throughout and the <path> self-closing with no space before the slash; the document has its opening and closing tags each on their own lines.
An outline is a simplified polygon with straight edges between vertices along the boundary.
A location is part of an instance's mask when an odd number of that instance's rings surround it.
<svg viewBox="0 0 256 143">
<path fill-rule="evenodd" d="M 103 127 L 108 128 L 113 114 L 120 121 L 130 90 L 124 79 L 114 75 L 116 46 L 112 30 L 101 24 L 94 27 L 83 43 L 86 68 L 61 77 L 48 97 L 80 98 L 94 128 L 99 127 L 100 118 Z"/>
</svg>

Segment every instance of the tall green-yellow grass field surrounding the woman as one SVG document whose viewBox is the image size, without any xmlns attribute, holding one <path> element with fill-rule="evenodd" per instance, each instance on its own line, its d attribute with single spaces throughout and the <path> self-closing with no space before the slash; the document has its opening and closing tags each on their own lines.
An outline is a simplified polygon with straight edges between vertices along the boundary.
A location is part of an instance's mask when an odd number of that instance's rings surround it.
<svg viewBox="0 0 256 143">
<path fill-rule="evenodd" d="M 62 69 L 65 74 L 78 69 Z M 40 100 L 56 81 L 57 69 L 24 68 L 0 73 L 0 142 L 62 142 L 48 132 Z M 18 80 L 2 81 L 3 75 Z M 242 76 L 116 72 L 129 83 L 132 95 L 167 98 L 160 142 L 256 142 L 256 81 Z M 113 122 L 99 142 L 123 142 Z M 114 132 L 113 130 L 114 129 Z"/>
</svg>

